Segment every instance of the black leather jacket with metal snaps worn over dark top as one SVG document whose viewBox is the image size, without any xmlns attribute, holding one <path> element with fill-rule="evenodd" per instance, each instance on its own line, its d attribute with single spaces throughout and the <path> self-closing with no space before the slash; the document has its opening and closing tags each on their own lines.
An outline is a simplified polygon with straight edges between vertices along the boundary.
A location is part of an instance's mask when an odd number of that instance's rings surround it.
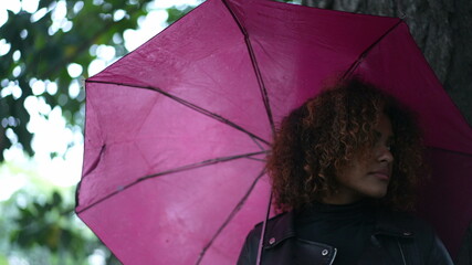
<svg viewBox="0 0 472 265">
<path fill-rule="evenodd" d="M 238 265 L 255 265 L 262 224 L 248 235 Z M 263 265 L 331 265 L 336 248 L 297 239 L 294 213 L 283 213 L 268 222 L 262 252 Z M 354 263 L 356 264 L 356 263 Z M 357 264 L 373 265 L 449 265 L 453 264 L 431 226 L 418 219 L 390 212 L 378 212 L 375 233 Z"/>
</svg>

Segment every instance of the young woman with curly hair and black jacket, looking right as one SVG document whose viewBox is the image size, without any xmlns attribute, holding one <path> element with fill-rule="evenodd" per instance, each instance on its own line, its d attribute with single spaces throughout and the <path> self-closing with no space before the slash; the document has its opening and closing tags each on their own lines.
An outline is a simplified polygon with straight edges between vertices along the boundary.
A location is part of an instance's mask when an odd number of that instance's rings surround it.
<svg viewBox="0 0 472 265">
<path fill-rule="evenodd" d="M 394 97 L 357 78 L 285 117 L 268 160 L 275 206 L 262 264 L 452 264 L 413 209 L 420 131 Z M 262 225 L 238 264 L 256 263 Z"/>
</svg>

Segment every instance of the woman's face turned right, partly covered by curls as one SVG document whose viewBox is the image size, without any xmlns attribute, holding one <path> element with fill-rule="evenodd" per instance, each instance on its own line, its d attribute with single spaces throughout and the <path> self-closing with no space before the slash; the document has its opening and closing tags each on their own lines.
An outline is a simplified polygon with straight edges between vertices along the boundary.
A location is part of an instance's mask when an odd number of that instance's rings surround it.
<svg viewBox="0 0 472 265">
<path fill-rule="evenodd" d="M 382 198 L 390 182 L 394 156 L 390 145 L 394 138 L 390 119 L 381 114 L 374 127 L 377 136 L 369 156 L 355 156 L 336 176 L 337 191 L 324 198 L 325 203 L 348 204 L 363 198 Z"/>
</svg>

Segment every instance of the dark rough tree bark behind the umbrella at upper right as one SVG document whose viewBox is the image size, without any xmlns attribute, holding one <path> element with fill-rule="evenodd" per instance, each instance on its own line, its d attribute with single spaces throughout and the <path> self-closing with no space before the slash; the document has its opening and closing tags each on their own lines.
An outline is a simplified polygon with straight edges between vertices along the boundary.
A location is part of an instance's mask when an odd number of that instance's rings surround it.
<svg viewBox="0 0 472 265">
<path fill-rule="evenodd" d="M 444 89 L 472 125 L 472 1 L 302 0 L 302 4 L 405 18 Z"/>
</svg>

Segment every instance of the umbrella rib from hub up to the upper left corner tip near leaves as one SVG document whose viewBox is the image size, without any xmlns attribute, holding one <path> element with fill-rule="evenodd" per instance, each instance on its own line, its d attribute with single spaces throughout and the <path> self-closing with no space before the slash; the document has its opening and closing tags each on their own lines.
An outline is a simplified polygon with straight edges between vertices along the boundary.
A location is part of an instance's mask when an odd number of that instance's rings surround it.
<svg viewBox="0 0 472 265">
<path fill-rule="evenodd" d="M 170 93 L 167 93 L 167 92 L 162 91 L 161 88 L 154 87 L 154 86 L 140 86 L 140 85 L 132 85 L 132 84 L 126 84 L 126 83 L 105 82 L 105 81 L 87 81 L 87 82 L 90 82 L 90 83 L 101 83 L 101 84 L 111 84 L 111 85 L 119 85 L 119 86 L 132 86 L 132 87 L 144 88 L 144 89 L 149 89 L 149 91 L 154 91 L 154 92 L 160 93 L 160 94 L 169 97 L 170 99 L 174 99 L 174 100 L 180 103 L 181 105 L 183 105 L 186 107 L 189 107 L 189 108 L 191 108 L 191 109 L 193 109 L 193 110 L 196 110 L 198 113 L 201 113 L 201 114 L 203 114 L 203 115 L 206 115 L 206 116 L 208 116 L 210 118 L 213 118 L 213 119 L 216 119 L 218 121 L 221 121 L 221 123 L 223 123 L 223 124 L 225 124 L 228 126 L 231 126 L 234 129 L 238 129 L 238 130 L 240 130 L 240 131 L 249 135 L 251 138 L 255 138 L 255 139 L 262 141 L 262 142 L 264 142 L 265 145 L 270 146 L 269 141 L 266 141 L 266 140 L 262 139 L 261 137 L 252 134 L 251 131 L 242 128 L 241 126 L 234 124 L 233 121 L 231 121 L 231 120 L 229 120 L 227 118 L 223 118 L 223 117 L 221 117 L 218 114 L 211 113 L 210 110 L 207 110 L 207 109 L 204 109 L 202 107 L 199 107 L 199 106 L 197 106 L 197 105 L 195 105 L 195 104 L 192 104 L 190 102 L 187 102 L 187 100 L 185 100 L 185 99 L 182 99 L 180 97 L 177 97 L 177 96 L 175 96 L 175 95 L 172 95 Z"/>
</svg>

